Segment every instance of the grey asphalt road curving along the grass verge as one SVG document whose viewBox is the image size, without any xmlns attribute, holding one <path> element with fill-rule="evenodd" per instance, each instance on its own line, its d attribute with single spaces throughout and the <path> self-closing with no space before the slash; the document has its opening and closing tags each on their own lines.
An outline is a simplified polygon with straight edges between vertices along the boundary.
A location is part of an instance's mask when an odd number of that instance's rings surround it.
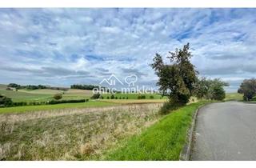
<svg viewBox="0 0 256 168">
<path fill-rule="evenodd" d="M 256 104 L 204 106 L 194 134 L 191 160 L 256 160 Z"/>
</svg>

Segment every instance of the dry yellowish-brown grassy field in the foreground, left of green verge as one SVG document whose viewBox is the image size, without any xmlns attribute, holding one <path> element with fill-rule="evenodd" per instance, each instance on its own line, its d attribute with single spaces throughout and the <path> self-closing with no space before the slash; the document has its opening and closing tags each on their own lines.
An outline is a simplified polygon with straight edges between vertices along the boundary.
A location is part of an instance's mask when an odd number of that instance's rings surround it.
<svg viewBox="0 0 256 168">
<path fill-rule="evenodd" d="M 102 160 L 159 118 L 160 103 L 0 114 L 0 160 Z"/>
</svg>

